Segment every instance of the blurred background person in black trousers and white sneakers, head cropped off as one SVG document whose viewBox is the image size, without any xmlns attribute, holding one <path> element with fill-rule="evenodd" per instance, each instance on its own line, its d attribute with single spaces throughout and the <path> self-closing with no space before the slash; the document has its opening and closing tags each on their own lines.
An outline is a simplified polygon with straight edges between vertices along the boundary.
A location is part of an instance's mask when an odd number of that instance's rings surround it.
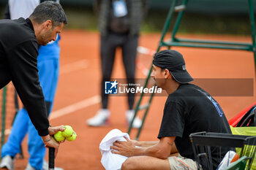
<svg viewBox="0 0 256 170">
<path fill-rule="evenodd" d="M 127 83 L 135 83 L 135 59 L 137 55 L 140 26 L 146 15 L 147 0 L 97 0 L 95 9 L 99 14 L 100 58 L 102 69 L 101 98 L 102 108 L 94 117 L 87 120 L 91 126 L 108 123 L 108 94 L 105 94 L 105 82 L 110 81 L 116 49 L 121 47 Z M 128 109 L 125 113 L 130 123 L 135 112 L 133 109 L 135 94 L 128 93 Z M 134 128 L 140 128 L 141 120 L 135 117 Z"/>
</svg>

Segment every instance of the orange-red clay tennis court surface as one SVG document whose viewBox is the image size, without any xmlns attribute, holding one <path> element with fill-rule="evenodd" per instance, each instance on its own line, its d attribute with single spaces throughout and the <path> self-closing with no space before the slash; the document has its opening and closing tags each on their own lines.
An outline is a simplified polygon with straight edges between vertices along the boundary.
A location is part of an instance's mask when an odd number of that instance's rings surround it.
<svg viewBox="0 0 256 170">
<path fill-rule="evenodd" d="M 251 42 L 250 37 L 244 36 L 181 36 Z M 156 50 L 159 39 L 160 34 L 142 34 L 139 45 Z M 60 45 L 61 72 L 50 123 L 53 126 L 72 125 L 78 134 L 78 138 L 74 142 L 61 144 L 56 158 L 56 166 L 65 170 L 104 169 L 100 163 L 99 143 L 108 134 L 108 131 L 113 128 L 118 128 L 124 132 L 127 131 L 128 126 L 124 117 L 124 112 L 127 109 L 127 98 L 124 96 L 110 98 L 109 109 L 111 117 L 109 126 L 99 128 L 87 126 L 86 120 L 92 117 L 100 108 L 99 34 L 90 31 L 64 30 L 61 33 Z M 185 47 L 173 47 L 173 49 L 180 51 L 184 55 L 184 59 L 187 62 L 187 70 L 194 78 L 254 79 L 253 96 L 214 97 L 224 110 L 228 120 L 256 101 L 255 63 L 251 52 Z M 151 58 L 148 57 L 148 63 L 150 61 Z M 148 66 L 148 63 L 145 63 L 146 66 Z M 113 78 L 124 78 L 124 75 L 121 51 L 119 50 L 116 55 Z M 145 77 L 140 69 L 137 69 L 137 77 Z M 166 96 L 154 97 L 140 140 L 157 140 L 165 99 Z M 135 130 L 132 131 L 132 137 L 135 136 L 135 132 Z M 26 141 L 23 142 L 23 150 L 25 158 L 16 161 L 15 169 L 17 170 L 25 169 L 29 158 Z"/>
</svg>

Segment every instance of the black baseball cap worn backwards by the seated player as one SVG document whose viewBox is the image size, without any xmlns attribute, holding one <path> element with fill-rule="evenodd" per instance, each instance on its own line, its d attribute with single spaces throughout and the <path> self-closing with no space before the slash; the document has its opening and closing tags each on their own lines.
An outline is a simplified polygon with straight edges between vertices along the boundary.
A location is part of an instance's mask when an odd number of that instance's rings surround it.
<svg viewBox="0 0 256 170">
<path fill-rule="evenodd" d="M 162 50 L 156 53 L 153 64 L 161 69 L 168 69 L 174 80 L 181 84 L 193 81 L 193 78 L 187 72 L 183 56 L 176 50 Z"/>
</svg>

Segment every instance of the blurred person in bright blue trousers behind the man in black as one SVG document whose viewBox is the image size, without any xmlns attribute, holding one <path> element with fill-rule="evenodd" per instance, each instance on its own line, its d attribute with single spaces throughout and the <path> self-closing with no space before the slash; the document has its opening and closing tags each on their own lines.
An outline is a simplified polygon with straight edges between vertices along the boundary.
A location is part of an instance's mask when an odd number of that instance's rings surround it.
<svg viewBox="0 0 256 170">
<path fill-rule="evenodd" d="M 29 15 L 34 11 L 42 0 L 9 0 L 4 19 L 29 18 Z M 59 1 L 57 1 L 59 3 Z M 39 82 L 42 87 L 42 92 L 45 96 L 45 105 L 48 112 L 53 107 L 53 99 L 56 93 L 57 82 L 59 79 L 59 39 L 49 42 L 46 46 L 39 46 L 37 69 L 39 73 Z M 45 144 L 37 134 L 36 128 L 29 119 L 28 112 L 25 108 L 18 111 L 15 121 L 12 125 L 12 132 L 7 140 L 7 143 L 1 148 L 1 168 L 13 170 L 15 166 L 15 155 L 21 152 L 20 144 L 23 142 L 26 134 L 28 136 L 29 148 L 29 163 L 26 170 L 41 170 L 48 169 L 48 163 L 44 161 Z M 61 170 L 61 168 L 55 168 Z"/>
</svg>

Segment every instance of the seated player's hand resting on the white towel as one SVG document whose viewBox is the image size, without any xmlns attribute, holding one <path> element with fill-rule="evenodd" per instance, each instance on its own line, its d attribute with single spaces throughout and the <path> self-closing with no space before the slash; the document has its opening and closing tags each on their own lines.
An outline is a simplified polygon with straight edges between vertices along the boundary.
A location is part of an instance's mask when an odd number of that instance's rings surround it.
<svg viewBox="0 0 256 170">
<path fill-rule="evenodd" d="M 134 155 L 136 147 L 135 144 L 132 143 L 129 139 L 124 137 L 127 142 L 116 141 L 113 143 L 113 146 L 110 147 L 111 152 L 116 153 L 118 155 L 123 155 L 127 157 L 131 157 Z"/>
</svg>

